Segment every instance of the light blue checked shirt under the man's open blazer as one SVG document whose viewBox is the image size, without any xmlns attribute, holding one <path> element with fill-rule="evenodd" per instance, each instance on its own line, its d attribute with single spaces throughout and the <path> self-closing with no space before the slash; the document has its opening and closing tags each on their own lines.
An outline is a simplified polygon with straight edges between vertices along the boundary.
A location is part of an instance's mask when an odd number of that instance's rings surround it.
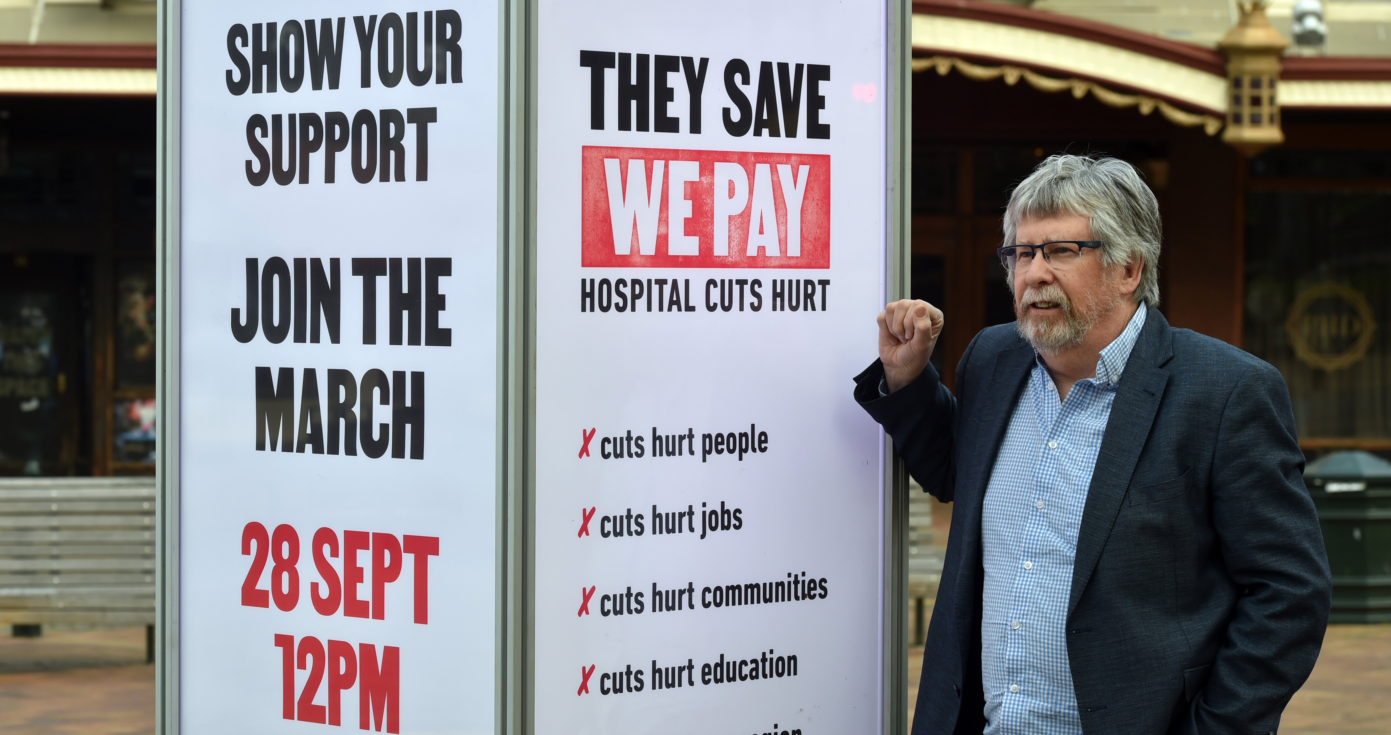
<svg viewBox="0 0 1391 735">
<path fill-rule="evenodd" d="M 1036 358 L 985 492 L 981 684 L 985 735 L 1081 735 L 1067 661 L 1077 531 L 1125 360 L 1145 325 L 1135 311 L 1102 350 L 1096 377 L 1060 402 Z"/>
</svg>

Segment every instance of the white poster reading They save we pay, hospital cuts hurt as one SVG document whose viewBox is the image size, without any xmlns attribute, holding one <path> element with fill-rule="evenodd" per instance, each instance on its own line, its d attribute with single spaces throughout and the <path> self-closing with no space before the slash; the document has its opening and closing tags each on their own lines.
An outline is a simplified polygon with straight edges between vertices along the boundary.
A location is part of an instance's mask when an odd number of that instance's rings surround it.
<svg viewBox="0 0 1391 735">
<path fill-rule="evenodd" d="M 537 24 L 536 732 L 879 732 L 885 7 Z"/>
</svg>

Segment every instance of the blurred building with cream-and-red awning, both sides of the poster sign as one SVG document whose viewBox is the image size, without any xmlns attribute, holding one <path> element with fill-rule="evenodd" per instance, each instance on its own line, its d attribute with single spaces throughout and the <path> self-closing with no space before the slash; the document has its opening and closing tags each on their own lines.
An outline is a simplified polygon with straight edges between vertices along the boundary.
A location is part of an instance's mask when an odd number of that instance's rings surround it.
<svg viewBox="0 0 1391 735">
<path fill-rule="evenodd" d="M 1277 365 L 1310 453 L 1391 450 L 1388 25 L 1391 0 L 915 1 L 914 292 L 951 314 L 947 381 L 1013 320 L 1010 188 L 1107 153 L 1160 197 L 1168 320 Z M 153 1 L 0 0 L 0 474 L 153 467 Z"/>
</svg>

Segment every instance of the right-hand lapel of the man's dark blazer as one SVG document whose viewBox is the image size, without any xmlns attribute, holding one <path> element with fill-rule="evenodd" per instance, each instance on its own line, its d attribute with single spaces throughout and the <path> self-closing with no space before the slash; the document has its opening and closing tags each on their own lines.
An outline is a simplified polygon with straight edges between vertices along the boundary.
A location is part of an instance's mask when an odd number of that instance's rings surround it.
<svg viewBox="0 0 1391 735">
<path fill-rule="evenodd" d="M 1092 471 L 1092 485 L 1086 492 L 1082 525 L 1077 534 L 1068 616 L 1082 597 L 1106 539 L 1110 538 L 1111 527 L 1116 525 L 1116 515 L 1135 474 L 1135 463 L 1139 461 L 1141 450 L 1149 439 L 1149 429 L 1159 413 L 1164 386 L 1168 383 L 1168 372 L 1159 367 L 1173 354 L 1168 322 L 1157 310 L 1148 308 L 1145 328 L 1131 350 L 1129 360 L 1125 361 L 1125 372 L 1121 374 L 1121 382 L 1116 389 L 1111 417 L 1106 422 L 1106 436 L 1102 439 L 1096 468 Z"/>
</svg>

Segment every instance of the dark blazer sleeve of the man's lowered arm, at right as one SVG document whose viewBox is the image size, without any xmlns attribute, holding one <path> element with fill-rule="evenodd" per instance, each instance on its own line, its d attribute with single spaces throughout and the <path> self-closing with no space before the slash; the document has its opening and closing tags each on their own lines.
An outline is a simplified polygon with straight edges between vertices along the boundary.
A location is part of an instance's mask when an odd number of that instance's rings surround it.
<svg viewBox="0 0 1391 735">
<path fill-rule="evenodd" d="M 1274 732 L 1319 657 L 1333 579 L 1303 465 L 1284 378 L 1262 363 L 1237 381 L 1213 456 L 1213 524 L 1242 593 L 1192 731 Z"/>
</svg>

